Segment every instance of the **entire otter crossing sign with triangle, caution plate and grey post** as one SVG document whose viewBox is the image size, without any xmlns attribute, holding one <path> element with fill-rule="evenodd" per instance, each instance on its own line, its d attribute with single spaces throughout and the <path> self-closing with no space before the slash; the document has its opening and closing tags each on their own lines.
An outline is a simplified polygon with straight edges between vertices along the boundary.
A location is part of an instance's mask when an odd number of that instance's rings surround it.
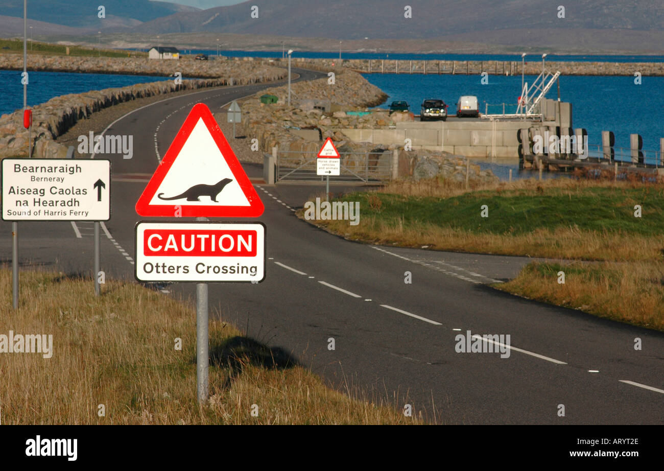
<svg viewBox="0 0 664 471">
<path fill-rule="evenodd" d="M 232 116 L 231 116 L 232 115 Z M 240 122 L 240 107 L 228 109 Z M 264 206 L 226 137 L 203 103 L 193 106 L 143 193 L 136 213 L 195 217 L 196 222 L 139 222 L 134 276 L 148 283 L 196 283 L 196 397 L 210 395 L 208 284 L 265 278 L 262 223 L 216 223 L 208 217 L 259 217 Z"/>
</svg>

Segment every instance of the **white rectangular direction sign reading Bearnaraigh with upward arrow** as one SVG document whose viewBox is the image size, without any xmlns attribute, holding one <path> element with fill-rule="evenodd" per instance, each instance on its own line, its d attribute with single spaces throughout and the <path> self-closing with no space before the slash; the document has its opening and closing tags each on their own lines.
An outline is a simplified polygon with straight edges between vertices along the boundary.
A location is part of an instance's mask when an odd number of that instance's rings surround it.
<svg viewBox="0 0 664 471">
<path fill-rule="evenodd" d="M 3 159 L 4 221 L 108 221 L 111 161 Z"/>
</svg>

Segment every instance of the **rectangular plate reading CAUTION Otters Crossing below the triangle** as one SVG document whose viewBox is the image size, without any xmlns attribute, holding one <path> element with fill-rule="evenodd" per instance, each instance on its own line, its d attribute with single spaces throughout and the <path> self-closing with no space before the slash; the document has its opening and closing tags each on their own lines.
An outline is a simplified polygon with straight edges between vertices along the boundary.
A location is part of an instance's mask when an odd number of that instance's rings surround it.
<svg viewBox="0 0 664 471">
<path fill-rule="evenodd" d="M 135 277 L 144 282 L 262 282 L 262 223 L 137 223 Z"/>
</svg>

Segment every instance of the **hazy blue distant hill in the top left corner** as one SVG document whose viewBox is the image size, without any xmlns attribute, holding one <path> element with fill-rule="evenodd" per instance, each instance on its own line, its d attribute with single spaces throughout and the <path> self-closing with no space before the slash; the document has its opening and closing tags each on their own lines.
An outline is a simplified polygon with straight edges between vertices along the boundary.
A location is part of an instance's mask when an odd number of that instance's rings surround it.
<svg viewBox="0 0 664 471">
<path fill-rule="evenodd" d="M 106 19 L 97 17 L 98 6 L 106 8 Z M 29 0 L 28 18 L 68 27 L 135 26 L 179 12 L 199 11 L 194 7 L 149 0 Z M 0 15 L 23 18 L 23 0 L 0 0 Z M 4 32 L 4 31 L 3 31 Z M 1 33 L 0 33 L 1 35 Z"/>
</svg>

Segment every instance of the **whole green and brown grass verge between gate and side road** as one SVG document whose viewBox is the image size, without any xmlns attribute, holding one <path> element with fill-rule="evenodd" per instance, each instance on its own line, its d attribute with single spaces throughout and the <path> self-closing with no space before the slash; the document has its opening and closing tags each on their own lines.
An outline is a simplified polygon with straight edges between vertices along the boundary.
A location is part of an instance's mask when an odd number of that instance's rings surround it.
<svg viewBox="0 0 664 471">
<path fill-rule="evenodd" d="M 664 248 L 664 187 L 644 183 L 519 181 L 463 191 L 399 182 L 359 201 L 358 225 L 312 221 L 364 242 L 434 250 L 582 260 L 655 260 Z M 482 217 L 486 205 L 487 217 Z M 635 217 L 635 205 L 641 217 Z M 302 214 L 302 212 L 300 212 Z"/>
</svg>

